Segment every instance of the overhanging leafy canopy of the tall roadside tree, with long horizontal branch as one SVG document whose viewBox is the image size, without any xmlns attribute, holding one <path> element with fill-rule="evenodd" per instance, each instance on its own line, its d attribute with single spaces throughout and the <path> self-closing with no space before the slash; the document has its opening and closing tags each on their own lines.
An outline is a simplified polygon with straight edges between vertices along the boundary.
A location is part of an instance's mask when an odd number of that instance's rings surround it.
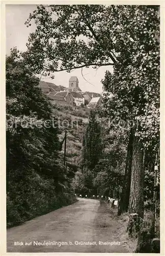
<svg viewBox="0 0 165 256">
<path fill-rule="evenodd" d="M 146 146 L 158 142 L 158 6 L 41 5 L 26 26 L 32 20 L 37 29 L 24 57 L 35 72 L 53 77 L 62 70 L 113 65 L 103 80 L 106 111 L 142 123 L 136 135 Z"/>
</svg>

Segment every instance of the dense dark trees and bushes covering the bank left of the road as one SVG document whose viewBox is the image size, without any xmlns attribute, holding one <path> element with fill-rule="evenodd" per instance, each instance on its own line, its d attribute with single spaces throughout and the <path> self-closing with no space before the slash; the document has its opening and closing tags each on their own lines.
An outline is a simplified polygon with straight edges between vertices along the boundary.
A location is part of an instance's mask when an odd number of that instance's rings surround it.
<svg viewBox="0 0 165 256">
<path fill-rule="evenodd" d="M 38 83 L 13 49 L 6 58 L 7 226 L 75 201 L 51 122 L 57 116 Z"/>
</svg>

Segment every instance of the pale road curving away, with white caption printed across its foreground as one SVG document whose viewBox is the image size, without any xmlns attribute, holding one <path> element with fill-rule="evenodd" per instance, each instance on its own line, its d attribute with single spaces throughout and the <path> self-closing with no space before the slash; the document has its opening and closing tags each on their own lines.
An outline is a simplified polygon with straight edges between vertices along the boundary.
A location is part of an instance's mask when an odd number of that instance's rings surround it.
<svg viewBox="0 0 165 256">
<path fill-rule="evenodd" d="M 7 252 L 128 252 L 119 244 L 117 229 L 104 203 L 78 199 L 72 205 L 9 228 Z M 23 245 L 16 245 L 18 242 Z"/>
</svg>

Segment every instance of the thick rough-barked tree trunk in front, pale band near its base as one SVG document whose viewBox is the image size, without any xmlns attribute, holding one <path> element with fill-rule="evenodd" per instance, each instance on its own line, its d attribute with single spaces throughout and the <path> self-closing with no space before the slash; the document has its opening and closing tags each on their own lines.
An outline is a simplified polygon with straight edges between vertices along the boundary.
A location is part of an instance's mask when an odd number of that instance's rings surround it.
<svg viewBox="0 0 165 256">
<path fill-rule="evenodd" d="M 144 154 L 142 142 L 138 137 L 133 140 L 131 185 L 129 197 L 129 223 L 127 230 L 131 236 L 136 236 L 140 230 L 141 220 L 144 216 Z M 134 232 L 134 234 L 133 234 Z"/>
</svg>

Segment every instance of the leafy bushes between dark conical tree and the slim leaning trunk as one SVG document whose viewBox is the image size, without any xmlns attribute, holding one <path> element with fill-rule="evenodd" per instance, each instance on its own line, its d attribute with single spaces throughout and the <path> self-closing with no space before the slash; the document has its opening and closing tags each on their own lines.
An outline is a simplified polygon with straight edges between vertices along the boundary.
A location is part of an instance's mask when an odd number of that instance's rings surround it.
<svg viewBox="0 0 165 256">
<path fill-rule="evenodd" d="M 102 118 L 102 143 L 104 145 L 102 158 L 93 169 L 93 184 L 100 193 L 111 195 L 111 189 L 123 186 L 125 168 L 125 133 L 121 130 L 109 129 L 107 120 Z M 111 188 L 110 188 L 111 187 Z"/>
</svg>

